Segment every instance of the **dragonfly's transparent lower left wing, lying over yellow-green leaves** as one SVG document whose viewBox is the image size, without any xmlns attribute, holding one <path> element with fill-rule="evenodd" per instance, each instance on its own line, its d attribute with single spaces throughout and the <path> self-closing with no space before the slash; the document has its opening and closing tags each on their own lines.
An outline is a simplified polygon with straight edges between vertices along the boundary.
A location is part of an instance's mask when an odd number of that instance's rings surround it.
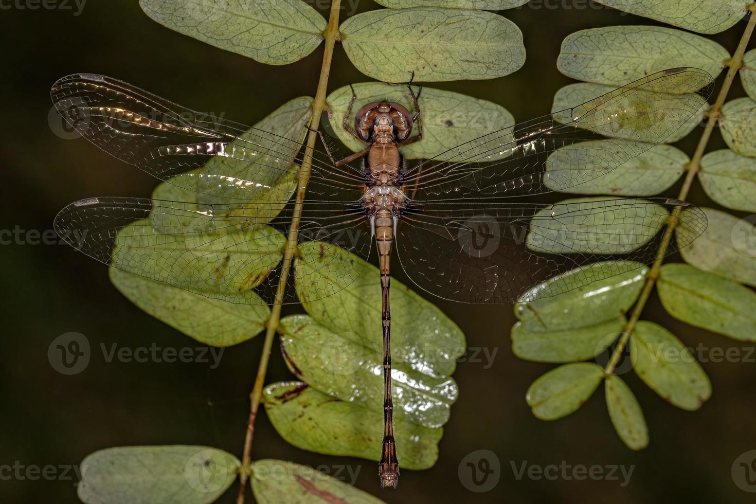
<svg viewBox="0 0 756 504">
<path fill-rule="evenodd" d="M 293 206 L 266 224 L 256 224 L 267 211 L 260 205 L 90 198 L 61 210 L 54 228 L 71 246 L 119 270 L 209 298 L 262 305 L 274 299 L 281 258 L 289 247 L 286 233 Z M 313 203 L 302 215 L 300 238 L 336 243 L 367 258 L 370 230 L 365 220 L 359 206 L 336 211 Z M 298 264 L 319 261 L 318 268 L 330 267 L 322 259 L 297 255 Z M 339 268 L 341 288 L 361 272 L 355 261 Z M 297 280 L 308 282 L 301 275 Z M 333 294 L 335 287 L 309 285 L 309 298 Z M 290 294 L 284 302 L 296 298 Z"/>
</svg>

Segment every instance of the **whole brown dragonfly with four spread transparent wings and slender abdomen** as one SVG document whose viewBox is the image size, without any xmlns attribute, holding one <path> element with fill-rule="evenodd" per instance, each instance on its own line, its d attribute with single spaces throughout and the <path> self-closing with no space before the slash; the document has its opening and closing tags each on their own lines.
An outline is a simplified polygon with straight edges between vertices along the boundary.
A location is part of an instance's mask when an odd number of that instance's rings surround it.
<svg viewBox="0 0 756 504">
<path fill-rule="evenodd" d="M 578 203 L 532 200 L 605 176 L 671 138 L 696 120 L 712 85 L 703 70 L 664 70 L 410 165 L 402 147 L 423 135 L 420 91 L 415 94 L 411 82 L 414 110 L 381 101 L 352 116 L 353 91 L 342 127 L 364 149 L 335 159 L 327 142 L 305 145 L 309 124 L 279 135 L 198 113 L 117 79 L 79 73 L 51 89 L 60 114 L 101 150 L 167 184 L 151 199 L 71 203 L 54 228 L 111 267 L 248 305 L 276 301 L 287 251 L 296 257 L 289 281 L 299 298 L 277 302 L 306 303 L 348 287 L 374 249 L 383 332 L 379 476 L 382 487 L 396 487 L 392 255 L 432 295 L 511 304 L 587 286 L 638 262 L 651 264 L 671 214 L 686 229 L 668 249 L 674 252 L 706 227 L 705 215 L 690 203 L 608 196 Z M 306 188 L 299 178 L 303 166 Z M 293 195 L 302 190 L 298 208 Z M 515 229 L 526 230 L 527 238 L 510 232 Z M 339 252 L 328 252 L 328 243 Z M 349 259 L 354 255 L 366 261 Z M 582 268 L 594 263 L 599 267 Z M 547 281 L 556 275 L 565 280 Z"/>
</svg>

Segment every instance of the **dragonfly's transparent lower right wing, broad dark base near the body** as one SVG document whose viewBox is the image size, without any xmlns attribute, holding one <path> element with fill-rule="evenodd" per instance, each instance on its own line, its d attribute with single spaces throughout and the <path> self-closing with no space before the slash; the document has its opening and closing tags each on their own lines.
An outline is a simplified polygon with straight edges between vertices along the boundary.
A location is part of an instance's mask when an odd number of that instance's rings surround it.
<svg viewBox="0 0 756 504">
<path fill-rule="evenodd" d="M 527 293 L 548 297 L 651 264 L 675 207 L 685 246 L 706 228 L 704 213 L 677 199 L 585 199 L 541 204 L 486 200 L 437 203 L 407 212 L 395 247 L 407 276 L 451 301 L 508 304 Z M 674 240 L 672 240 L 674 242 Z M 672 243 L 668 253 L 675 252 Z M 600 262 L 557 286 L 540 284 L 575 267 Z M 540 284 L 540 285 L 539 285 Z"/>
</svg>

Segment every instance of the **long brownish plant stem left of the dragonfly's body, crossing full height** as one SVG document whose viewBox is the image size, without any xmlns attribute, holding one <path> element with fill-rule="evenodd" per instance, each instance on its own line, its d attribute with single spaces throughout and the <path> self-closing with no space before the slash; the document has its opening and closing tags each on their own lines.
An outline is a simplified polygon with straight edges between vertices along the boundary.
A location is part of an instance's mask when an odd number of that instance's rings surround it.
<svg viewBox="0 0 756 504">
<path fill-rule="evenodd" d="M 268 324 L 265 329 L 265 342 L 262 345 L 262 355 L 257 369 L 257 377 L 252 392 L 249 394 L 249 422 L 246 426 L 246 438 L 244 440 L 244 451 L 239 473 L 239 495 L 237 504 L 244 502 L 244 490 L 246 490 L 246 481 L 249 478 L 249 463 L 252 453 L 252 438 L 255 430 L 255 419 L 257 410 L 260 407 L 262 399 L 262 386 L 265 384 L 265 373 L 268 370 L 268 359 L 271 355 L 273 339 L 278 329 L 278 320 L 281 314 L 281 305 L 283 304 L 283 295 L 286 291 L 287 280 L 291 270 L 291 262 L 296 250 L 297 237 L 299 233 L 299 221 L 302 218 L 302 206 L 305 203 L 305 188 L 310 180 L 310 171 L 312 165 L 312 152 L 315 147 L 315 141 L 318 138 L 318 127 L 321 124 L 321 113 L 326 107 L 326 89 L 328 86 L 328 76 L 330 74 L 331 60 L 333 59 L 333 46 L 339 36 L 339 8 L 341 0 L 331 2 L 330 17 L 328 27 L 324 33 L 325 52 L 323 54 L 323 64 L 321 66 L 321 76 L 318 80 L 318 91 L 315 92 L 315 98 L 312 101 L 312 112 L 309 121 L 309 132 L 307 144 L 305 146 L 305 156 L 302 161 L 302 167 L 297 174 L 296 199 L 294 202 L 294 211 L 292 215 L 291 227 L 287 238 L 287 248 L 283 252 L 283 261 L 281 262 L 281 274 L 276 295 L 271 310 L 271 317 L 268 318 Z"/>
</svg>

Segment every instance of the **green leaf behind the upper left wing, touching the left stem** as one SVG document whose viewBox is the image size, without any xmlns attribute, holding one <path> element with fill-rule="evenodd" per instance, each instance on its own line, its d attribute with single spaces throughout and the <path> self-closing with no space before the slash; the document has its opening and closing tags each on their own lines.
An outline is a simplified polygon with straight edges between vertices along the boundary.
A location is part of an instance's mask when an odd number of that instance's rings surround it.
<svg viewBox="0 0 756 504">
<path fill-rule="evenodd" d="M 237 156 L 240 159 L 215 156 L 202 168 L 177 175 L 158 185 L 153 191 L 152 199 L 209 204 L 218 203 L 224 198 L 238 200 L 256 206 L 258 209 L 258 214 L 255 215 L 256 224 L 270 222 L 280 213 L 286 205 L 286 200 L 296 190 L 298 167 L 296 164 L 287 166 L 286 163 L 287 159 L 293 159 L 304 141 L 307 132 L 305 123 L 311 115 L 311 104 L 311 97 L 298 97 L 288 101 L 241 134 L 240 138 L 231 142 L 228 147 L 228 150 L 236 149 L 236 152 L 247 153 L 247 155 Z M 262 135 L 260 130 L 269 131 L 280 138 Z M 256 145 L 254 150 L 249 149 L 250 142 Z M 250 173 L 255 174 L 253 182 L 257 184 L 256 188 L 249 184 L 245 184 L 241 189 L 228 186 L 223 187 L 224 193 L 213 188 L 213 196 L 184 189 L 188 184 L 182 181 L 184 178 L 194 177 L 201 181 L 201 184 L 214 184 L 215 178 L 212 175 L 246 181 L 249 180 Z M 200 174 L 206 176 L 197 177 Z M 181 181 L 181 187 L 177 181 Z M 270 205 L 268 211 L 262 212 L 264 207 L 262 203 Z M 243 212 L 243 217 L 245 222 L 249 221 L 249 210 Z M 228 232 L 228 223 L 222 224 L 221 232 Z"/>
</svg>

